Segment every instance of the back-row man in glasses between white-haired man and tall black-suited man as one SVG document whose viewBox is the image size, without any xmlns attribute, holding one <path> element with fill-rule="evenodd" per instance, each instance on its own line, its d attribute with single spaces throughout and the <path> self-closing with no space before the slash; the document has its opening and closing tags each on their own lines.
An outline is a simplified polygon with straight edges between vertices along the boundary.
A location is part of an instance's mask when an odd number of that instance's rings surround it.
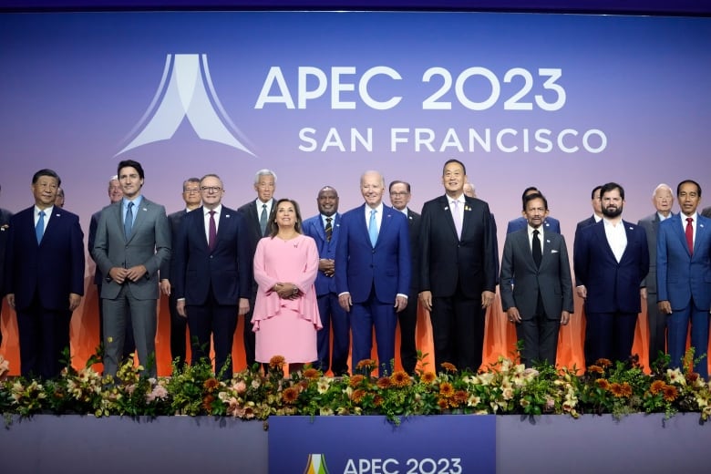
<svg viewBox="0 0 711 474">
<path fill-rule="evenodd" d="M 397 314 L 397 322 L 400 325 L 400 363 L 402 368 L 410 376 L 415 375 L 417 366 L 417 283 L 419 268 L 419 214 L 407 207 L 407 203 L 412 199 L 410 183 L 407 181 L 392 181 L 388 187 L 390 191 L 390 203 L 397 211 L 402 212 L 407 217 L 407 226 L 410 234 L 410 259 L 412 277 L 410 278 L 410 289 L 407 293 L 407 306 Z"/>
</svg>

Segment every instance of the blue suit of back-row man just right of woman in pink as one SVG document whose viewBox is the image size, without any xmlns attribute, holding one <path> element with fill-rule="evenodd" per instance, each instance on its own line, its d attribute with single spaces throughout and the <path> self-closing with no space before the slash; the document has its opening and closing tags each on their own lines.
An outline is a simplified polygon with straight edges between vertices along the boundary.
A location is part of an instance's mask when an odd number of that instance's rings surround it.
<svg viewBox="0 0 711 474">
<path fill-rule="evenodd" d="M 303 224 L 304 235 L 316 242 L 318 256 L 322 259 L 335 260 L 335 248 L 341 233 L 341 214 L 331 216 L 331 240 L 326 240 L 324 221 L 321 214 L 306 219 Z M 314 366 L 324 373 L 329 368 L 335 376 L 345 376 L 348 373 L 348 349 L 350 346 L 350 317 L 338 304 L 338 293 L 335 290 L 335 277 L 325 273 L 316 274 L 316 297 L 318 313 L 324 327 L 318 331 L 318 360 Z M 333 323 L 334 353 L 331 356 L 331 325 Z M 333 363 L 331 362 L 333 360 Z"/>
</svg>

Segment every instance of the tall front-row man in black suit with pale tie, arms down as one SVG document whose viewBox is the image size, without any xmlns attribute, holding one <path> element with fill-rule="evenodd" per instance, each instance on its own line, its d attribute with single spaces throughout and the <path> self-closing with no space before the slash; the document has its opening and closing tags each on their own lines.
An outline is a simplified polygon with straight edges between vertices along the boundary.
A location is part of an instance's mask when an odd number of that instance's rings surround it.
<svg viewBox="0 0 711 474">
<path fill-rule="evenodd" d="M 496 253 L 489 204 L 464 195 L 467 170 L 448 160 L 445 195 L 422 208 L 419 301 L 430 312 L 435 366 L 479 370 L 484 320 L 496 290 Z"/>
</svg>

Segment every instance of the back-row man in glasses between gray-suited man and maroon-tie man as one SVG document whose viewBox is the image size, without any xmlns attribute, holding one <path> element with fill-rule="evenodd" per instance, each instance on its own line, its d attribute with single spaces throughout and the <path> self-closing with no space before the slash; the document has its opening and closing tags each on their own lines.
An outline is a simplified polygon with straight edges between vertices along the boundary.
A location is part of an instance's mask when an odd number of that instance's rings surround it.
<svg viewBox="0 0 711 474">
<path fill-rule="evenodd" d="M 188 320 L 178 314 L 178 299 L 172 291 L 171 274 L 175 263 L 175 242 L 180 231 L 182 218 L 198 209 L 201 204 L 200 178 L 188 178 L 182 182 L 182 200 L 185 209 L 173 212 L 168 216 L 170 222 L 170 260 L 160 267 L 160 293 L 168 296 L 168 309 L 170 311 L 170 360 L 178 359 L 180 366 L 186 363 L 187 348 L 185 346 L 185 332 L 188 330 Z"/>
</svg>

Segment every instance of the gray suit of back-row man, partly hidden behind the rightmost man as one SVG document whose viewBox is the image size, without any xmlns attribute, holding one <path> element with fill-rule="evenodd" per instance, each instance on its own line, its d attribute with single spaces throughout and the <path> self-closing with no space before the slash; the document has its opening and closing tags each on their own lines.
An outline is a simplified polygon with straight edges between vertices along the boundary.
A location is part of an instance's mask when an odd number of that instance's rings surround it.
<svg viewBox="0 0 711 474">
<path fill-rule="evenodd" d="M 670 214 L 671 216 L 672 214 Z M 656 297 L 656 234 L 659 231 L 659 214 L 654 212 L 637 222 L 637 225 L 647 232 L 647 248 L 649 249 L 649 273 L 644 277 L 641 286 L 647 288 L 647 320 L 649 324 L 649 366 L 659 356 L 666 353 L 666 314 L 657 307 Z"/>
</svg>

